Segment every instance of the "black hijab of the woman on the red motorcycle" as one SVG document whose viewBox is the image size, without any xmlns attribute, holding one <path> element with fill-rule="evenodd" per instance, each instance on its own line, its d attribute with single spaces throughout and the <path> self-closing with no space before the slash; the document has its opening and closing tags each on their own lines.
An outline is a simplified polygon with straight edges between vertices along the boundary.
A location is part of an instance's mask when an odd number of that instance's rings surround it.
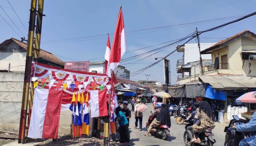
<svg viewBox="0 0 256 146">
<path fill-rule="evenodd" d="M 171 127 L 169 108 L 166 104 L 162 104 L 162 110 L 159 112 L 159 115 L 157 116 L 157 121 L 167 125 L 168 127 Z"/>
</svg>

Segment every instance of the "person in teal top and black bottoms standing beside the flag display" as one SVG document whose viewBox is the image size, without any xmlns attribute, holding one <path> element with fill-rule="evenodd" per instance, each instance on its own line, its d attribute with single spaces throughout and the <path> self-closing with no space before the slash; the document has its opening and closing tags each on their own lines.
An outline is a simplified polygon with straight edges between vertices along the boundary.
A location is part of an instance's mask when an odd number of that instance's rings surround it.
<svg viewBox="0 0 256 146">
<path fill-rule="evenodd" d="M 124 114 L 124 112 L 119 111 L 117 116 L 117 121 L 120 126 L 119 134 L 120 134 L 120 145 L 126 145 L 130 142 L 129 138 L 129 130 L 128 130 L 128 120 Z"/>
</svg>

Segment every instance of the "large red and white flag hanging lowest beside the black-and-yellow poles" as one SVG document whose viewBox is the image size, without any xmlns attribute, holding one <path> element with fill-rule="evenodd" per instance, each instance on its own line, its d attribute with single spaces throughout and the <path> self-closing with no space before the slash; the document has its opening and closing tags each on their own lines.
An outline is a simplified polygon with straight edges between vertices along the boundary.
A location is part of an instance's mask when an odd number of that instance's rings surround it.
<svg viewBox="0 0 256 146">
<path fill-rule="evenodd" d="M 35 88 L 27 137 L 58 138 L 62 97 L 63 91 L 61 90 Z"/>
</svg>

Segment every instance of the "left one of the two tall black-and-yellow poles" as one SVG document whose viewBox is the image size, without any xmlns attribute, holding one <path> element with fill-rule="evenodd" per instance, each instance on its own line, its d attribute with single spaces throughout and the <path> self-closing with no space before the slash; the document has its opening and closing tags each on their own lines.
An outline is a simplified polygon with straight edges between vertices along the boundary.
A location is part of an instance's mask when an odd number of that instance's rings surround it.
<svg viewBox="0 0 256 146">
<path fill-rule="evenodd" d="M 30 7 L 30 19 L 29 19 L 29 35 L 27 40 L 27 57 L 26 57 L 26 67 L 25 67 L 25 76 L 24 76 L 24 88 L 22 95 L 22 105 L 20 111 L 20 125 L 19 125 L 19 139 L 18 143 L 25 143 L 25 127 L 27 122 L 27 104 L 29 99 L 29 90 L 30 90 L 30 74 L 31 74 L 31 65 L 32 65 L 32 48 L 34 40 L 34 31 L 35 31 L 35 15 L 36 15 L 37 0 L 31 0 Z"/>
</svg>

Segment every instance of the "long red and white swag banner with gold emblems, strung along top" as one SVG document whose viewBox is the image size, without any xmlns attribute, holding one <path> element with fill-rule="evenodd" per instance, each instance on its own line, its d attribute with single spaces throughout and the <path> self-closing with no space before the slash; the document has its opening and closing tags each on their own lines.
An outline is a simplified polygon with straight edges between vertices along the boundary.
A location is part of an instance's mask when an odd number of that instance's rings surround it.
<svg viewBox="0 0 256 146">
<path fill-rule="evenodd" d="M 38 62 L 32 63 L 31 77 L 37 77 L 38 79 L 46 78 L 48 80 L 56 81 L 95 81 L 104 82 L 107 84 L 109 82 L 109 77 L 106 74 L 101 73 L 90 73 L 90 72 L 79 72 L 74 70 L 60 69 L 53 66 L 40 64 Z"/>
</svg>

